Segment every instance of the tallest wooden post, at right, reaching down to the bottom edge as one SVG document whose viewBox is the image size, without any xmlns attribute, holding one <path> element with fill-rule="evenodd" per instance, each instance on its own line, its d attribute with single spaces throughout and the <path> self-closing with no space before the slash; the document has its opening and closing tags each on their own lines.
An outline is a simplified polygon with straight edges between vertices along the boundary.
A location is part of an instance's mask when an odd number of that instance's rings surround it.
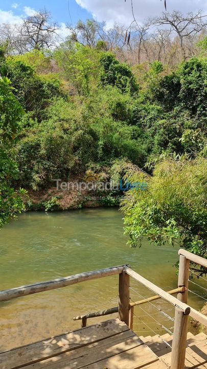
<svg viewBox="0 0 207 369">
<path fill-rule="evenodd" d="M 178 287 L 185 286 L 185 292 L 178 292 L 179 301 L 187 303 L 188 300 L 188 278 L 190 261 L 180 255 Z M 186 344 L 188 332 L 188 315 L 179 308 L 175 308 L 175 323 L 172 343 L 171 369 L 183 369 L 185 367 Z"/>
</svg>

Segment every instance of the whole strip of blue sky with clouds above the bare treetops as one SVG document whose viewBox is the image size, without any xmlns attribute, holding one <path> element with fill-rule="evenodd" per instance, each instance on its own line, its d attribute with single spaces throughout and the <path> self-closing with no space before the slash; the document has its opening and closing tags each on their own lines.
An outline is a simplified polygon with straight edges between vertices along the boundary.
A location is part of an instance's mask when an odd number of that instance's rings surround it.
<svg viewBox="0 0 207 369">
<path fill-rule="evenodd" d="M 52 13 L 65 35 L 66 25 L 75 25 L 79 19 L 94 17 L 99 22 L 105 21 L 107 28 L 114 22 L 129 26 L 132 21 L 131 0 L 0 0 L 0 24 L 20 23 L 22 17 L 44 7 Z M 165 10 L 164 0 L 133 0 L 133 7 L 140 23 Z M 169 12 L 180 10 L 187 13 L 198 9 L 203 9 L 206 14 L 207 0 L 167 0 Z"/>
</svg>

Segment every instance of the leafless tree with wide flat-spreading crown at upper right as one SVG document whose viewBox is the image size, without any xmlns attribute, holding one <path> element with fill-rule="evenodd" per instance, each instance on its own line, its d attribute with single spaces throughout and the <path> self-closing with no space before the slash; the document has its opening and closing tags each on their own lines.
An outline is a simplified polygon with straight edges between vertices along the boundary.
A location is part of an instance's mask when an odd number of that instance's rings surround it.
<svg viewBox="0 0 207 369">
<path fill-rule="evenodd" d="M 204 15 L 199 10 L 196 14 L 188 13 L 186 16 L 179 11 L 173 11 L 172 13 L 162 13 L 161 16 L 155 18 L 154 24 L 158 26 L 169 26 L 171 31 L 174 31 L 179 37 L 182 57 L 184 60 L 188 57 L 186 55 L 186 48 L 184 45 L 185 38 L 189 36 L 195 36 L 204 28 L 206 23 L 204 22 Z"/>
</svg>

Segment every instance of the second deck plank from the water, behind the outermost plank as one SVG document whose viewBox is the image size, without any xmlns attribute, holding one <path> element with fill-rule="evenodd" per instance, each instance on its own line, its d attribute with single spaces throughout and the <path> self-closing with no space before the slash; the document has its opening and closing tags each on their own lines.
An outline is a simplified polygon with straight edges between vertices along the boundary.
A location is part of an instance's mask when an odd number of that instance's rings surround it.
<svg viewBox="0 0 207 369">
<path fill-rule="evenodd" d="M 104 360 L 140 345 L 143 345 L 140 338 L 134 332 L 128 330 L 93 344 L 76 348 L 76 350 L 66 352 L 59 356 L 28 365 L 27 369 L 79 369 L 82 366 L 90 366 L 97 361 Z"/>
</svg>

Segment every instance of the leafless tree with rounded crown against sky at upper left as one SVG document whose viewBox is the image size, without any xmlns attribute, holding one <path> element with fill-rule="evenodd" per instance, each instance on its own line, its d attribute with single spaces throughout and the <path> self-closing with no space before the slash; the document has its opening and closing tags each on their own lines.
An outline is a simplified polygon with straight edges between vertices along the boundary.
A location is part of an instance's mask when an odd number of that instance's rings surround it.
<svg viewBox="0 0 207 369">
<path fill-rule="evenodd" d="M 41 9 L 27 17 L 19 30 L 25 51 L 51 47 L 58 29 L 57 23 L 51 22 L 51 13 L 46 9 Z"/>
</svg>

